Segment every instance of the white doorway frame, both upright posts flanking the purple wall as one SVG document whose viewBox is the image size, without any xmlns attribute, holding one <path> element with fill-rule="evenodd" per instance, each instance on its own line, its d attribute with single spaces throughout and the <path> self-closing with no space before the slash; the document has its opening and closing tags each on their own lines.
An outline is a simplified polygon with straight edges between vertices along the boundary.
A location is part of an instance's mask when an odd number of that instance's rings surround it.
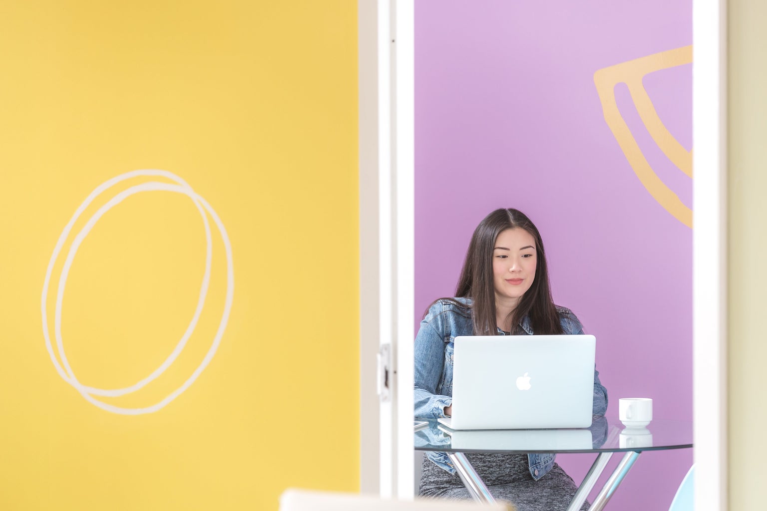
<svg viewBox="0 0 767 511">
<path fill-rule="evenodd" d="M 693 0 L 693 427 L 698 511 L 727 509 L 726 5 L 726 0 Z M 413 494 L 414 9 L 413 0 L 358 0 L 357 7 L 360 488 L 407 497 Z M 712 281 L 718 283 L 713 289 Z M 374 360 L 379 345 L 386 342 L 393 350 L 393 399 L 379 408 L 372 397 Z"/>
</svg>

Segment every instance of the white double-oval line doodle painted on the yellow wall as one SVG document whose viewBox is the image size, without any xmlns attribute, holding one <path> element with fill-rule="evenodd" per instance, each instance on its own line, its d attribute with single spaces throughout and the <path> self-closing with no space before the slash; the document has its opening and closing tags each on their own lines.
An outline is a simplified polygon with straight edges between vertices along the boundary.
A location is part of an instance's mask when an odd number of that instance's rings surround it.
<svg viewBox="0 0 767 511">
<path fill-rule="evenodd" d="M 131 179 L 139 176 L 162 176 L 164 178 L 170 179 L 173 182 L 176 182 L 176 185 L 173 185 L 171 183 L 166 182 L 156 182 L 156 181 L 150 181 L 150 182 L 144 182 L 140 185 L 134 185 L 130 188 L 127 188 L 123 190 L 122 192 L 115 195 L 113 198 L 111 198 L 105 205 L 101 206 L 98 211 L 94 213 L 94 215 L 87 221 L 84 228 L 81 229 L 80 232 L 77 233 L 77 236 L 74 237 L 74 241 L 72 242 L 71 247 L 69 248 L 69 252 L 67 253 L 67 258 L 64 260 L 64 267 L 61 270 L 61 276 L 59 277 L 58 282 L 58 293 L 56 294 L 56 310 L 55 310 L 55 316 L 54 316 L 54 336 L 56 338 L 56 347 L 58 349 L 58 354 L 61 356 L 61 362 L 63 363 L 64 367 L 61 367 L 61 364 L 58 363 L 58 360 L 56 359 L 56 355 L 54 354 L 53 346 L 51 345 L 51 336 L 50 332 L 48 331 L 48 313 L 46 312 L 48 303 L 48 287 L 50 286 L 51 282 L 51 274 L 53 273 L 53 267 L 56 263 L 56 260 L 58 259 L 58 255 L 61 253 L 61 248 L 64 246 L 64 242 L 67 241 L 67 238 L 69 237 L 69 234 L 72 230 L 72 227 L 74 226 L 74 222 L 77 221 L 77 218 L 80 218 L 80 215 L 82 215 L 83 211 L 85 211 L 85 208 L 88 207 L 88 205 L 91 204 L 91 202 L 94 201 L 95 198 L 97 198 L 99 195 L 101 195 L 103 192 L 105 192 L 107 189 L 111 188 L 114 185 L 117 185 L 117 183 L 122 182 L 126 179 Z M 130 195 L 134 195 L 140 192 L 152 192 L 152 191 L 164 191 L 164 192 L 176 192 L 183 195 L 188 196 L 192 199 L 194 202 L 197 210 L 199 211 L 200 215 L 202 215 L 202 223 L 205 225 L 205 236 L 207 241 L 207 247 L 206 247 L 206 261 L 205 261 L 205 274 L 202 277 L 202 285 L 200 286 L 199 290 L 199 299 L 197 300 L 197 306 L 195 309 L 194 316 L 192 320 L 189 322 L 189 326 L 186 327 L 186 332 L 184 332 L 184 335 L 179 340 L 178 344 L 176 344 L 176 348 L 173 349 L 173 352 L 168 356 L 167 359 L 158 367 L 157 369 L 152 372 L 149 376 L 146 376 L 146 378 L 141 379 L 139 382 L 130 385 L 130 387 L 126 388 L 95 388 L 90 387 L 87 385 L 81 384 L 77 380 L 77 377 L 74 375 L 74 371 L 72 371 L 71 366 L 69 365 L 69 361 L 67 360 L 67 355 L 64 353 L 64 342 L 61 339 L 61 303 L 64 299 L 64 286 L 67 282 L 67 277 L 69 274 L 69 270 L 72 266 L 72 261 L 74 260 L 74 255 L 77 254 L 77 249 L 80 247 L 81 243 L 87 236 L 89 232 L 91 232 L 91 229 L 94 227 L 96 222 L 101 218 L 104 213 L 109 211 L 111 208 L 114 208 L 114 206 L 120 204 L 123 200 L 130 197 Z M 186 346 L 186 342 L 189 340 L 189 337 L 192 336 L 192 332 L 197 326 L 197 322 L 199 320 L 199 316 L 202 313 L 202 307 L 205 305 L 205 299 L 208 293 L 208 287 L 210 282 L 210 268 L 211 268 L 211 260 L 212 260 L 212 240 L 211 240 L 211 234 L 210 234 L 210 225 L 208 223 L 208 217 L 206 215 L 206 211 L 209 213 L 209 215 L 213 218 L 213 221 L 216 223 L 216 227 L 219 229 L 219 233 L 221 234 L 221 238 L 224 244 L 224 248 L 226 251 L 226 298 L 225 298 L 225 304 L 224 304 L 224 311 L 221 316 L 221 322 L 219 323 L 219 329 L 216 331 L 216 336 L 213 339 L 212 345 L 208 349 L 208 352 L 206 352 L 205 358 L 202 359 L 202 362 L 200 365 L 195 369 L 195 371 L 192 373 L 191 376 L 186 380 L 186 382 L 183 383 L 179 388 L 176 388 L 175 391 L 171 392 L 169 395 L 167 395 L 165 398 L 163 398 L 162 401 L 156 403 L 155 405 L 152 405 L 147 408 L 120 408 L 114 405 L 109 405 L 107 403 L 104 403 L 104 401 L 99 401 L 98 399 L 94 398 L 94 395 L 98 396 L 107 396 L 107 397 L 117 397 L 120 395 L 126 395 L 130 394 L 131 392 L 135 392 L 139 390 L 140 388 L 143 388 L 150 382 L 152 382 L 155 378 L 159 377 L 160 375 L 165 372 L 166 369 L 170 367 L 171 364 L 176 360 L 176 358 L 179 356 L 179 354 L 183 351 L 184 346 Z M 56 243 L 56 247 L 54 248 L 53 254 L 51 254 L 51 260 L 48 263 L 48 270 L 45 272 L 45 281 L 43 283 L 43 294 L 42 294 L 42 319 L 43 319 L 43 336 L 45 337 L 45 347 L 48 349 L 48 354 L 51 355 L 51 361 L 53 361 L 53 364 L 56 368 L 56 371 L 61 376 L 61 378 L 64 378 L 64 382 L 67 382 L 69 385 L 72 385 L 74 388 L 77 389 L 78 392 L 89 402 L 91 402 L 93 405 L 96 405 L 97 407 L 105 410 L 110 411 L 115 414 L 124 414 L 124 415 L 139 415 L 139 414 L 149 414 L 154 411 L 160 410 L 160 408 L 163 408 L 165 405 L 170 403 L 170 401 L 173 401 L 173 399 L 177 398 L 183 391 L 185 391 L 187 388 L 189 388 L 189 385 L 192 385 L 193 382 L 197 379 L 197 377 L 202 373 L 202 371 L 207 367 L 211 359 L 213 358 L 213 355 L 216 355 L 216 350 L 219 348 L 219 343 L 221 342 L 221 337 L 223 336 L 224 330 L 226 329 L 226 323 L 229 322 L 229 313 L 232 310 L 232 298 L 234 296 L 234 272 L 232 269 L 232 244 L 229 242 L 229 236 L 226 233 L 226 229 L 224 228 L 224 225 L 221 222 L 221 219 L 219 218 L 219 215 L 216 215 L 216 211 L 213 211 L 213 208 L 208 204 L 208 202 L 202 198 L 200 195 L 198 195 L 189 184 L 187 184 L 183 179 L 179 178 L 179 176 L 173 174 L 172 172 L 167 172 L 165 170 L 134 170 L 132 172 L 126 172 L 124 174 L 120 174 L 117 177 L 110 179 L 101 185 L 98 185 L 97 188 L 94 189 L 93 192 L 91 192 L 91 195 L 88 195 L 85 201 L 80 205 L 79 208 L 77 208 L 77 211 L 74 212 L 74 216 L 71 218 L 69 223 L 64 227 L 64 231 L 61 232 L 61 236 L 58 238 L 58 242 Z"/>
</svg>

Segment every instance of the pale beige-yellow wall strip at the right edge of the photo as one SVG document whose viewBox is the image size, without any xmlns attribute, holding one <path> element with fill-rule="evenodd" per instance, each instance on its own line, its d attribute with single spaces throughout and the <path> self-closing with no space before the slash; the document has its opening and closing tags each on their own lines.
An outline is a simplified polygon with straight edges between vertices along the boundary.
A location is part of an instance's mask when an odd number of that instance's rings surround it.
<svg viewBox="0 0 767 511">
<path fill-rule="evenodd" d="M 764 508 L 767 5 L 729 2 L 729 509 Z"/>
</svg>

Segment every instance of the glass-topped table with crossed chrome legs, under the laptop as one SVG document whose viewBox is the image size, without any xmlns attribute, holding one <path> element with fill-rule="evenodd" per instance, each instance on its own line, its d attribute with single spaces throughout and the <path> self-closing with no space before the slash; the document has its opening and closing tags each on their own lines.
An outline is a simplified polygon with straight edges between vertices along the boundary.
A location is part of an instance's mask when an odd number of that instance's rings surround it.
<svg viewBox="0 0 767 511">
<path fill-rule="evenodd" d="M 578 487 L 568 511 L 581 509 L 613 453 L 626 454 L 591 503 L 591 511 L 604 509 L 641 452 L 693 447 L 692 421 L 654 419 L 647 427 L 630 428 L 624 427 L 617 418 L 594 417 L 591 427 L 584 429 L 464 431 L 450 430 L 437 423 L 436 419 L 430 419 L 428 423 L 415 432 L 415 449 L 447 453 L 469 493 L 482 502 L 495 500 L 463 453 L 597 454 L 597 459 Z"/>
</svg>

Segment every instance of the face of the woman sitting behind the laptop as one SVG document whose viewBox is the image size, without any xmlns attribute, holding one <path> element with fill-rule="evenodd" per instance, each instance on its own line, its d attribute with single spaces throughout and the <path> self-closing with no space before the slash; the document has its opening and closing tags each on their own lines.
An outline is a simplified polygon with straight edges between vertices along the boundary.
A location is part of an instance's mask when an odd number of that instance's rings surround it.
<svg viewBox="0 0 767 511">
<path fill-rule="evenodd" d="M 522 228 L 506 229 L 495 238 L 492 251 L 492 275 L 495 303 L 517 306 L 535 280 L 538 253 L 535 238 Z"/>
</svg>

